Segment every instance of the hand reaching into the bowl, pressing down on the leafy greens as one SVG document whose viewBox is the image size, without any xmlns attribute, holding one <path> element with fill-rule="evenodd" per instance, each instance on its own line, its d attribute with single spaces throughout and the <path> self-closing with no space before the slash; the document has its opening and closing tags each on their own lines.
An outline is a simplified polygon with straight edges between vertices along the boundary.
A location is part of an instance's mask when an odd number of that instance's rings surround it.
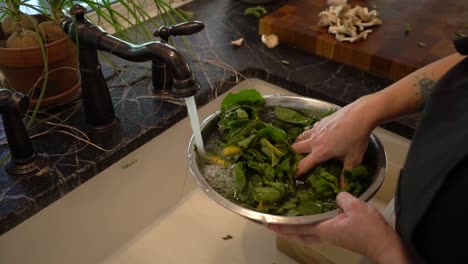
<svg viewBox="0 0 468 264">
<path fill-rule="evenodd" d="M 372 109 L 366 109 L 365 101 L 366 98 L 361 98 L 347 105 L 297 137 L 292 145 L 294 151 L 309 153 L 298 164 L 298 176 L 331 158 L 343 161 L 343 169 L 361 163 L 370 133 L 378 125 L 369 114 Z"/>
</svg>

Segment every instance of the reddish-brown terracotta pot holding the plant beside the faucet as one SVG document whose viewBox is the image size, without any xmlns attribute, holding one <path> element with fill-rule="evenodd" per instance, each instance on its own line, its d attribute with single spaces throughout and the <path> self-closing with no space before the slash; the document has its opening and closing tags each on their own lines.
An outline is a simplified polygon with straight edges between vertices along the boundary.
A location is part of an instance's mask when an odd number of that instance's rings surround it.
<svg viewBox="0 0 468 264">
<path fill-rule="evenodd" d="M 77 51 L 68 36 L 44 46 L 48 54 L 48 80 L 41 107 L 66 103 L 79 94 Z M 0 48 L 0 70 L 9 88 L 26 94 L 37 103 L 44 71 L 40 47 Z M 38 82 L 39 81 L 39 82 Z"/>
</svg>

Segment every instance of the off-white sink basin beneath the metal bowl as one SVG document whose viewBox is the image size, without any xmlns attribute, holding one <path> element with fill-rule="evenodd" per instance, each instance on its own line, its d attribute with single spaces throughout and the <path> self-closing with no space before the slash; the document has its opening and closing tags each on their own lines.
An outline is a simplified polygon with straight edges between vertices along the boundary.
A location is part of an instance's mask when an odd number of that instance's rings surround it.
<svg viewBox="0 0 468 264">
<path fill-rule="evenodd" d="M 231 91 L 292 94 L 258 79 Z M 223 96 L 199 109 L 200 120 Z M 275 235 L 216 204 L 188 172 L 188 119 L 177 123 L 65 197 L 0 236 L 10 263 L 296 263 L 276 248 Z M 393 196 L 409 141 L 377 129 L 388 175 L 373 203 Z M 223 237 L 232 236 L 224 240 Z M 331 252 L 330 259 L 340 262 Z M 349 259 L 348 259 L 349 260 Z M 346 263 L 349 263 L 346 262 Z"/>
</svg>

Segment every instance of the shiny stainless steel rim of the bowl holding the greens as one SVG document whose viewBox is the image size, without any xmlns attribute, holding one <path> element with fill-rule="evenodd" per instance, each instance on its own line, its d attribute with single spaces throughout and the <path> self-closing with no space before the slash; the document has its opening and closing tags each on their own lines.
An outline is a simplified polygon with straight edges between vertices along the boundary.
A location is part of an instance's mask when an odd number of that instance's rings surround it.
<svg viewBox="0 0 468 264">
<path fill-rule="evenodd" d="M 283 106 L 292 109 L 301 110 L 313 115 L 320 115 L 328 110 L 340 107 L 325 101 L 311 99 L 306 97 L 298 96 L 284 96 L 284 95 L 270 95 L 264 96 L 266 100 L 265 106 Z M 211 131 L 217 129 L 217 122 L 219 120 L 219 112 L 216 112 L 206 118 L 201 124 L 202 137 L 205 139 Z M 330 219 L 339 214 L 338 210 L 329 211 L 322 214 L 307 215 L 307 216 L 279 216 L 257 212 L 244 208 L 230 200 L 224 198 L 221 194 L 216 192 L 206 181 L 202 174 L 201 166 L 203 166 L 201 160 L 198 159 L 194 149 L 194 137 L 189 143 L 188 149 L 188 160 L 189 168 L 195 181 L 199 187 L 209 196 L 211 199 L 224 206 L 225 208 L 244 216 L 248 219 L 272 224 L 311 224 L 317 223 Z M 359 197 L 363 201 L 370 200 L 374 194 L 378 191 L 385 177 L 387 167 L 387 156 L 384 147 L 380 140 L 371 134 L 369 138 L 369 147 L 367 148 L 366 154 L 364 155 L 363 163 L 370 167 L 372 172 L 372 182 L 369 188 Z"/>
</svg>

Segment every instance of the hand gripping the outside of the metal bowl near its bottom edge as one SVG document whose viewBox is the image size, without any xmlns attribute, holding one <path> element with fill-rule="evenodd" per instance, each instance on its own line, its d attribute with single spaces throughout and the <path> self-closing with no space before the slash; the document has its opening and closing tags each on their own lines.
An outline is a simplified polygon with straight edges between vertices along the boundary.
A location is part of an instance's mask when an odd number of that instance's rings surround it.
<svg viewBox="0 0 468 264">
<path fill-rule="evenodd" d="M 271 225 L 286 238 L 307 244 L 324 241 L 366 255 L 376 263 L 405 263 L 406 254 L 397 233 L 372 206 L 341 192 L 336 198 L 342 213 L 318 224 Z M 396 262 L 391 262 L 396 261 Z"/>
</svg>

